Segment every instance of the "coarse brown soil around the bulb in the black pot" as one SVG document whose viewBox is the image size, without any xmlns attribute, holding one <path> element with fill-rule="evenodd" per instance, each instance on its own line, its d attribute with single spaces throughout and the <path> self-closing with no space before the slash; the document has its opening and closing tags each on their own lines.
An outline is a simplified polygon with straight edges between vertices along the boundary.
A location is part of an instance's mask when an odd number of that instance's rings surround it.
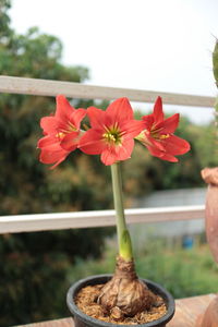
<svg viewBox="0 0 218 327">
<path fill-rule="evenodd" d="M 104 284 L 88 286 L 80 290 L 75 298 L 75 304 L 86 315 L 111 323 L 116 325 L 137 325 L 146 324 L 159 319 L 167 313 L 164 300 L 159 295 L 155 295 L 156 301 L 148 310 L 141 312 L 133 317 L 125 317 L 120 314 L 119 307 L 114 307 L 110 313 L 104 312 L 102 307 L 97 303 L 98 295 Z"/>
</svg>

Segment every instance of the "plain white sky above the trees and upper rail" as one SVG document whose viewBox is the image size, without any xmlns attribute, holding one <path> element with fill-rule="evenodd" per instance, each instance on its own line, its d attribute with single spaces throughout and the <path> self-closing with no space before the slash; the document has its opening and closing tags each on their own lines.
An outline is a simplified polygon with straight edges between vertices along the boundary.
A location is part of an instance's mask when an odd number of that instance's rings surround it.
<svg viewBox="0 0 218 327">
<path fill-rule="evenodd" d="M 216 95 L 218 0 L 13 0 L 11 17 L 17 33 L 39 26 L 58 36 L 62 61 L 86 65 L 89 84 Z M 175 111 L 196 122 L 213 117 L 210 109 Z"/>
</svg>

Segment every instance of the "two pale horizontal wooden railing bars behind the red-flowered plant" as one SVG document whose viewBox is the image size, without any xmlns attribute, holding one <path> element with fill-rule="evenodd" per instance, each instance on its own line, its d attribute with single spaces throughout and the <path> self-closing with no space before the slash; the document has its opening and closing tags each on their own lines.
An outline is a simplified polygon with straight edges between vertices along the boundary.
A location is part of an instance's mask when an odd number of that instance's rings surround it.
<svg viewBox="0 0 218 327">
<path fill-rule="evenodd" d="M 73 98 L 116 99 L 128 97 L 132 101 L 154 102 L 161 96 L 165 104 L 211 108 L 215 98 L 185 94 L 83 85 L 71 82 L 0 76 L 0 93 L 56 96 Z M 128 223 L 167 220 L 203 219 L 204 206 L 128 209 Z M 0 233 L 27 232 L 69 228 L 104 227 L 114 225 L 114 211 L 82 211 L 1 216 Z"/>
</svg>

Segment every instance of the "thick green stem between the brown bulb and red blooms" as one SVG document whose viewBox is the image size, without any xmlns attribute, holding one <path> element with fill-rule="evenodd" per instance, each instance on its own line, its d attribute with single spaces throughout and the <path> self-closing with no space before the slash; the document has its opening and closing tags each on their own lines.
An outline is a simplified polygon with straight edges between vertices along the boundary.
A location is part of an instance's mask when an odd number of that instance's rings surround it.
<svg viewBox="0 0 218 327">
<path fill-rule="evenodd" d="M 119 255 L 126 262 L 132 261 L 132 243 L 125 222 L 123 198 L 122 198 L 122 178 L 120 162 L 111 165 L 113 201 L 117 217 L 117 232 Z"/>
</svg>

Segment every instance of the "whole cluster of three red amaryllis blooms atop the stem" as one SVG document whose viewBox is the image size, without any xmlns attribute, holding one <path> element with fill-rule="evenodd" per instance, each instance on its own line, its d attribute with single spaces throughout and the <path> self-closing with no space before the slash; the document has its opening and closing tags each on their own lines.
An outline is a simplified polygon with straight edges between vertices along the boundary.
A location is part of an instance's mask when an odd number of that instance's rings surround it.
<svg viewBox="0 0 218 327">
<path fill-rule="evenodd" d="M 81 129 L 82 120 L 89 118 L 90 129 Z M 73 108 L 63 95 L 57 96 L 55 116 L 44 117 L 40 126 L 44 137 L 38 141 L 40 161 L 57 167 L 66 156 L 80 148 L 88 155 L 100 155 L 102 164 L 110 166 L 131 157 L 134 140 L 162 160 L 178 161 L 175 156 L 190 150 L 190 144 L 173 133 L 179 113 L 165 119 L 162 101 L 158 97 L 154 112 L 135 120 L 128 98 L 119 98 L 106 109 Z"/>
</svg>

